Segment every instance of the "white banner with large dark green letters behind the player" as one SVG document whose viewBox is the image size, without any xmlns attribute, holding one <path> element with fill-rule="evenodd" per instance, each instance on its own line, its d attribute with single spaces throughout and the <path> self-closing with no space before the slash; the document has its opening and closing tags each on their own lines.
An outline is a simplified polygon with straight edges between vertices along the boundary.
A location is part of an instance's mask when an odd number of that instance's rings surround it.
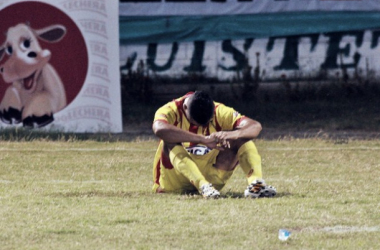
<svg viewBox="0 0 380 250">
<path fill-rule="evenodd" d="M 152 76 L 186 79 L 196 73 L 214 83 L 242 81 L 247 70 L 262 82 L 278 82 L 283 76 L 304 81 L 335 79 L 342 76 L 343 69 L 351 77 L 374 79 L 380 77 L 379 55 L 380 31 L 363 30 L 129 45 L 121 47 L 120 64 L 123 75 L 141 71 L 139 62 L 145 62 Z"/>
</svg>

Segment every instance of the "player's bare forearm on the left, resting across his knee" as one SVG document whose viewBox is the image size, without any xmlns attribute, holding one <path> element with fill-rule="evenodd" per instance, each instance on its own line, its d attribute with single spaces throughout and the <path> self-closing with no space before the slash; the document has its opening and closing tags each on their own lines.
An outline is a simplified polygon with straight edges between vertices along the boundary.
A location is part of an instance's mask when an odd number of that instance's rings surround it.
<svg viewBox="0 0 380 250">
<path fill-rule="evenodd" d="M 153 123 L 153 132 L 166 143 L 192 142 L 211 146 L 211 148 L 216 147 L 214 139 L 182 130 L 165 121 L 155 121 Z"/>
</svg>

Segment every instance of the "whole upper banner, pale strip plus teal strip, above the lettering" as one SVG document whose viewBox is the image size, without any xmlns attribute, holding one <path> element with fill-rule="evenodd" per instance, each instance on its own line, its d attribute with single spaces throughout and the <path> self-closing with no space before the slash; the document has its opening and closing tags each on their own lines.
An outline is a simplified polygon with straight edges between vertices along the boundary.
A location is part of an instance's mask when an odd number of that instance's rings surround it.
<svg viewBox="0 0 380 250">
<path fill-rule="evenodd" d="M 380 28 L 380 0 L 133 0 L 119 13 L 122 45 Z"/>
</svg>

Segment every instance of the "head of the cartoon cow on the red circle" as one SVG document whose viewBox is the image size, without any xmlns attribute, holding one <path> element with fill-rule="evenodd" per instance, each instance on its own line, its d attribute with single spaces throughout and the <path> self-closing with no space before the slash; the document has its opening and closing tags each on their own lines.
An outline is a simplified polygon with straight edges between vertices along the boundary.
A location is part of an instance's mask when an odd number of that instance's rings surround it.
<svg viewBox="0 0 380 250">
<path fill-rule="evenodd" d="M 37 38 L 46 42 L 58 42 L 66 33 L 62 25 L 34 30 L 26 24 L 18 24 L 8 29 L 7 39 L 0 47 L 0 60 L 8 55 L 8 60 L 0 66 L 0 73 L 7 83 L 23 81 L 26 90 L 35 88 L 39 71 L 48 63 L 51 53 L 42 49 Z"/>
</svg>

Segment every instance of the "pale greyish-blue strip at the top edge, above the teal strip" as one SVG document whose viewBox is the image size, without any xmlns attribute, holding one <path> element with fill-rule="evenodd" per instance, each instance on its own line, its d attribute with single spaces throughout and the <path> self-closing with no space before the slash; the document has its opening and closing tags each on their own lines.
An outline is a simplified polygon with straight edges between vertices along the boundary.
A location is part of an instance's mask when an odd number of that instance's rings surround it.
<svg viewBox="0 0 380 250">
<path fill-rule="evenodd" d="M 126 16 L 380 10 L 379 0 L 121 0 L 120 2 L 120 14 Z"/>
</svg>

